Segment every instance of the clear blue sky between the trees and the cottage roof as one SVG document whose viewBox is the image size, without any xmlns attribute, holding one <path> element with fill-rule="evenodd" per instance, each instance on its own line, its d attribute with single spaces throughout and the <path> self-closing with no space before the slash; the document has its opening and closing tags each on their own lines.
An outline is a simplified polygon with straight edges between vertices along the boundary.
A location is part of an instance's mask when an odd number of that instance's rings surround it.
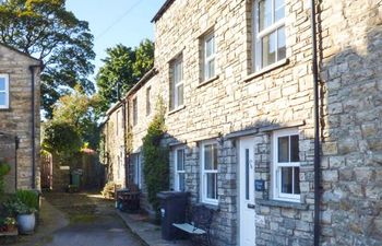
<svg viewBox="0 0 382 246">
<path fill-rule="evenodd" d="M 67 9 L 87 21 L 95 37 L 95 73 L 103 65 L 106 48 L 117 44 L 135 47 L 144 38 L 154 39 L 151 20 L 165 0 L 67 0 Z M 95 77 L 92 75 L 93 80 Z"/>
</svg>

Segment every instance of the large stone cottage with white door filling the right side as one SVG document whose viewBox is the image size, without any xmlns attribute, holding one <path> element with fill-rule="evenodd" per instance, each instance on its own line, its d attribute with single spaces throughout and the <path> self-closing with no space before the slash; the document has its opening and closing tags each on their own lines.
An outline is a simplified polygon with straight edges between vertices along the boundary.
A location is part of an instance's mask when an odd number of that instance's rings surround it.
<svg viewBox="0 0 382 246">
<path fill-rule="evenodd" d="M 171 188 L 219 208 L 214 245 L 382 244 L 381 0 L 167 0 L 153 23 Z M 154 94 L 128 97 L 124 172 Z"/>
</svg>

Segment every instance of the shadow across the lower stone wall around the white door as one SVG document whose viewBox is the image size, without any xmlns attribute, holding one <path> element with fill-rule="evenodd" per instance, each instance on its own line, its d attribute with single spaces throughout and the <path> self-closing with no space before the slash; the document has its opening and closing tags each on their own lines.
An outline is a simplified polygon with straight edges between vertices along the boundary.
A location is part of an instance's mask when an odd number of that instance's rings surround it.
<svg viewBox="0 0 382 246">
<path fill-rule="evenodd" d="M 219 211 L 215 213 L 212 229 L 212 239 L 216 245 L 237 245 L 238 235 L 238 156 L 236 140 L 240 137 L 254 136 L 254 162 L 255 162 L 255 178 L 263 179 L 265 185 L 264 191 L 256 191 L 256 199 L 268 200 L 271 185 L 271 163 L 272 163 L 272 131 L 286 128 L 295 128 L 299 130 L 299 149 L 300 149 L 300 181 L 301 181 L 301 201 L 307 203 L 307 199 L 312 200 L 313 194 L 313 136 L 309 136 L 312 132 L 312 126 L 306 125 L 303 121 L 299 122 L 277 122 L 270 120 L 255 121 L 244 129 L 236 132 L 231 132 L 225 136 L 218 136 L 217 138 L 210 139 L 216 140 L 218 143 L 218 197 L 219 197 Z M 167 136 L 167 142 L 172 144 L 183 144 L 186 147 L 186 187 L 187 191 L 191 192 L 191 203 L 198 203 L 201 200 L 200 197 L 200 184 L 201 184 L 201 166 L 200 166 L 200 152 L 202 151 L 198 142 L 187 142 L 176 139 L 172 136 Z M 208 139 L 206 139 L 208 140 Z M 203 141 L 203 140 L 202 140 Z M 171 162 L 170 178 L 174 180 L 174 161 Z M 259 207 L 260 208 L 260 207 Z M 283 221 L 279 214 L 279 208 L 272 209 L 270 216 L 263 214 L 260 209 L 256 209 L 258 215 L 264 216 L 264 225 L 256 227 L 256 235 L 261 238 L 260 234 L 270 233 L 274 235 L 270 237 L 266 243 L 270 245 L 278 244 L 279 241 L 284 242 L 284 245 L 312 245 L 312 238 L 302 237 L 286 237 L 282 230 L 272 231 L 270 227 L 271 222 Z M 277 213 L 278 210 L 278 213 Z M 296 211 L 296 214 L 299 211 Z M 279 215 L 277 215 L 279 214 Z M 293 220 L 293 223 L 297 223 L 298 219 Z M 279 223 L 283 227 L 284 223 Z"/>
</svg>

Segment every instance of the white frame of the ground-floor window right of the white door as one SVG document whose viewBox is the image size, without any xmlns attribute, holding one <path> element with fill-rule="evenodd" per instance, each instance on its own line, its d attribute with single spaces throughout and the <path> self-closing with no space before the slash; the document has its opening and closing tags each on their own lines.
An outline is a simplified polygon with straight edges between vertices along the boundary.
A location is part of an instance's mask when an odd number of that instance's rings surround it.
<svg viewBox="0 0 382 246">
<path fill-rule="evenodd" d="M 278 130 L 273 133 L 273 172 L 272 172 L 272 185 L 273 185 L 273 199 L 283 200 L 283 201 L 291 201 L 291 202 L 301 202 L 301 195 L 293 195 L 293 194 L 284 194 L 282 192 L 282 167 L 300 167 L 300 162 L 288 162 L 288 163 L 279 163 L 278 162 L 278 138 L 290 137 L 290 136 L 299 136 L 297 129 L 284 129 Z M 290 155 L 290 144 L 289 144 L 289 155 Z M 299 177 L 298 177 L 299 178 Z M 294 185 L 293 177 L 293 185 Z"/>
</svg>

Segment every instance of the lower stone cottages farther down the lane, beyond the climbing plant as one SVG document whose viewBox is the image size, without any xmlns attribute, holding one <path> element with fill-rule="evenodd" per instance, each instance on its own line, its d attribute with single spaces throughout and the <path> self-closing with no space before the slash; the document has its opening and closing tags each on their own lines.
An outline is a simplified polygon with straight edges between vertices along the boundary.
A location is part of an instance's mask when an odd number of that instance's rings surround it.
<svg viewBox="0 0 382 246">
<path fill-rule="evenodd" d="M 107 110 L 103 125 L 102 156 L 107 167 L 107 180 L 119 187 L 134 184 L 145 190 L 142 174 L 142 138 L 154 116 L 156 97 L 160 87 L 156 86 L 156 69 L 148 71 L 127 95 Z M 129 154 L 128 154 L 129 153 Z M 142 204 L 150 204 L 142 195 Z"/>
</svg>

